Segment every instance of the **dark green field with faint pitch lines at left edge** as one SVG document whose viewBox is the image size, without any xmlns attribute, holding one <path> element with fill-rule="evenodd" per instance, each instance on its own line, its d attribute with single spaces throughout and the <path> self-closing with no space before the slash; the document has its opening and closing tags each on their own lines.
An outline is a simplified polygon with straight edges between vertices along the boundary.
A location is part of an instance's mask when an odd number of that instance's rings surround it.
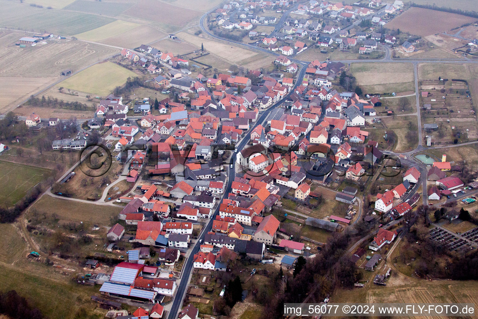
<svg viewBox="0 0 478 319">
<path fill-rule="evenodd" d="M 15 205 L 30 188 L 49 177 L 51 171 L 46 168 L 0 161 L 0 205 Z"/>
</svg>

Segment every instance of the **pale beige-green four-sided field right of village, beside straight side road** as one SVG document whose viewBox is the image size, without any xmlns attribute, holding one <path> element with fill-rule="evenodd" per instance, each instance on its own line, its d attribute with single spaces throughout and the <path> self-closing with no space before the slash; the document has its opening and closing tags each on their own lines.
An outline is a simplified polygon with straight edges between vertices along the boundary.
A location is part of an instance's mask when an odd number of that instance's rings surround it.
<svg viewBox="0 0 478 319">
<path fill-rule="evenodd" d="M 414 91 L 413 65 L 409 63 L 352 63 L 350 72 L 364 93 Z"/>
</svg>

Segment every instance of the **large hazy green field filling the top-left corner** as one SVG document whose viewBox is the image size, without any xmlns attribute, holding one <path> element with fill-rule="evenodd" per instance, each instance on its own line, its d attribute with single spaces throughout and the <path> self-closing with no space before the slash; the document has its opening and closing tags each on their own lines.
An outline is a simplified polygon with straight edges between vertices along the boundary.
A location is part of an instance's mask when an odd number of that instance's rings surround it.
<svg viewBox="0 0 478 319">
<path fill-rule="evenodd" d="M 46 10 L 27 4 L 0 0 L 0 27 L 26 31 L 73 35 L 96 29 L 114 19 L 72 11 Z"/>
</svg>

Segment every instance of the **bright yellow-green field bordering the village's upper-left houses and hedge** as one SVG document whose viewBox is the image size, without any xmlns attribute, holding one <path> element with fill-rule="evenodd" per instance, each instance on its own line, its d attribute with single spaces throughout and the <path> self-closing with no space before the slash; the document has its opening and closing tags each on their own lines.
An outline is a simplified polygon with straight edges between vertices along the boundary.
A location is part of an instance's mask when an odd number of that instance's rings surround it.
<svg viewBox="0 0 478 319">
<path fill-rule="evenodd" d="M 82 92 L 106 96 L 136 74 L 112 62 L 99 63 L 61 82 L 61 86 Z"/>
</svg>

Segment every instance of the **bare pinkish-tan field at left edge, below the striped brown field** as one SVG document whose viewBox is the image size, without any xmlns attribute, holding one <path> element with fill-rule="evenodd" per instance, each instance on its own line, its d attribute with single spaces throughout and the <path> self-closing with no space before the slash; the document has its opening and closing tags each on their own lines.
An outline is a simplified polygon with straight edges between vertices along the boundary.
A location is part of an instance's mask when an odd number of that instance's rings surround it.
<svg viewBox="0 0 478 319">
<path fill-rule="evenodd" d="M 45 88 L 53 80 L 53 77 L 0 77 L 0 87 L 8 92 L 0 95 L 0 112 L 16 108 L 21 101 Z"/>
</svg>

